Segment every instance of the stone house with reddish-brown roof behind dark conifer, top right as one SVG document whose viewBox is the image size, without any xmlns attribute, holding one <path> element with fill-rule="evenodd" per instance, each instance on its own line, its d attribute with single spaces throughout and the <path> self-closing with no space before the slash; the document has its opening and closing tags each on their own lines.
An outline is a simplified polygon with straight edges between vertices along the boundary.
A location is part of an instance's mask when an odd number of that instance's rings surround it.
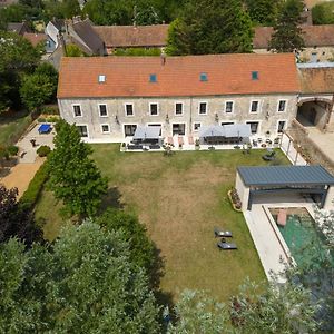
<svg viewBox="0 0 334 334">
<path fill-rule="evenodd" d="M 305 49 L 298 58 L 303 62 L 334 61 L 334 24 L 302 26 Z M 253 39 L 256 53 L 268 53 L 273 27 L 257 27 Z"/>
</svg>

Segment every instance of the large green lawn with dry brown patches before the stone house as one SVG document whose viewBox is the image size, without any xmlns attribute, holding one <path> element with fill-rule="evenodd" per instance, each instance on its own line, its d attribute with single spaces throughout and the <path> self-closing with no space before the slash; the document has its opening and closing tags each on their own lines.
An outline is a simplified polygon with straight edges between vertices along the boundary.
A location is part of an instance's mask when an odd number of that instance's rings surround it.
<svg viewBox="0 0 334 334">
<path fill-rule="evenodd" d="M 165 294 L 175 297 L 185 287 L 199 288 L 226 301 L 246 276 L 265 278 L 244 217 L 227 198 L 236 166 L 266 164 L 264 150 L 178 151 L 165 157 L 119 153 L 119 145 L 110 144 L 92 148 L 92 158 L 109 178 L 104 206 L 124 205 L 147 226 L 165 261 Z M 42 194 L 36 216 L 47 219 L 46 237 L 55 238 L 63 223 L 51 193 Z M 238 250 L 219 252 L 214 226 L 232 230 Z"/>
</svg>

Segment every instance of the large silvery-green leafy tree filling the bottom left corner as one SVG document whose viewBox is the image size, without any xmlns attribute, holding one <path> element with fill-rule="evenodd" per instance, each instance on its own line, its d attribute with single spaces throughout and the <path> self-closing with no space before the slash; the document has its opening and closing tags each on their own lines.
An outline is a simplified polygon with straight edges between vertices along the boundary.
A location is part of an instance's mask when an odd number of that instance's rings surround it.
<svg viewBox="0 0 334 334">
<path fill-rule="evenodd" d="M 120 233 L 85 222 L 49 247 L 0 246 L 1 333 L 159 333 L 159 308 Z"/>
</svg>

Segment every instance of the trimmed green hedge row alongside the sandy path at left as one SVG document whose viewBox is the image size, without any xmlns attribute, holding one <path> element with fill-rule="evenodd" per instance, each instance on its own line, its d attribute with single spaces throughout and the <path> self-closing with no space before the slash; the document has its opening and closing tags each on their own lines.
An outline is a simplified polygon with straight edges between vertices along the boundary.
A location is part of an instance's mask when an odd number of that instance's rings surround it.
<svg viewBox="0 0 334 334">
<path fill-rule="evenodd" d="M 20 198 L 19 205 L 21 206 L 21 208 L 32 210 L 43 188 L 43 185 L 48 180 L 48 178 L 49 178 L 48 163 L 46 161 L 42 166 L 40 166 L 35 177 L 30 181 L 28 189 Z"/>
</svg>

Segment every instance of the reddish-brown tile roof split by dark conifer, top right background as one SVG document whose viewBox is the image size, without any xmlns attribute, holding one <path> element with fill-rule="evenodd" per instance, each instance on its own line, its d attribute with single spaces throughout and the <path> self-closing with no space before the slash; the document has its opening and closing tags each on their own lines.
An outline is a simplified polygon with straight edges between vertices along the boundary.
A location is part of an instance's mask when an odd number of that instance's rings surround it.
<svg viewBox="0 0 334 334">
<path fill-rule="evenodd" d="M 305 47 L 334 46 L 334 24 L 302 26 Z M 267 49 L 273 33 L 273 27 L 257 27 L 254 29 L 254 49 Z"/>
</svg>

